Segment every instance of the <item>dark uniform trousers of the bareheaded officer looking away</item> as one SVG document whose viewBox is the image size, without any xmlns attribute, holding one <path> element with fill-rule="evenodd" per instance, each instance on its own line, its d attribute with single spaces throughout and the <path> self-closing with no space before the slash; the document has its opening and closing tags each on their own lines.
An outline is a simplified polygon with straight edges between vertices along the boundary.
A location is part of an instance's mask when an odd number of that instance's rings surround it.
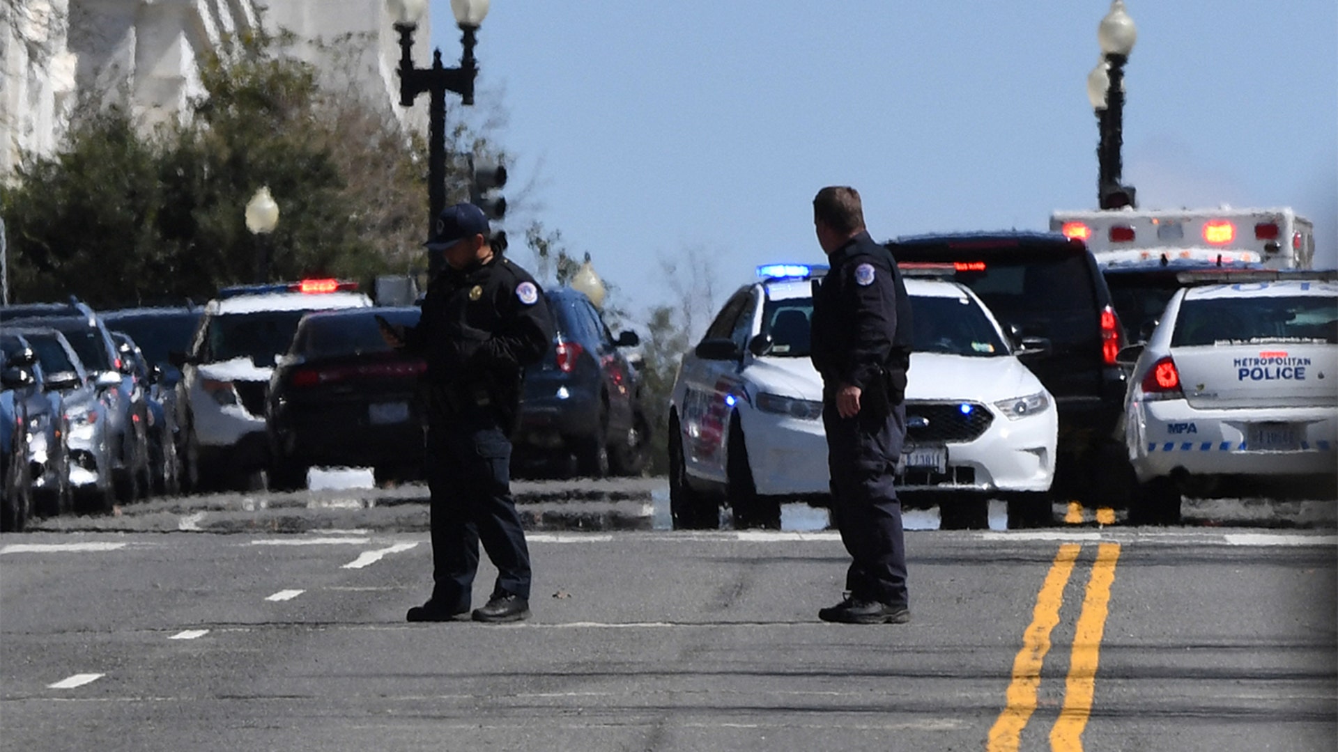
<svg viewBox="0 0 1338 752">
<path fill-rule="evenodd" d="M 868 401 L 854 417 L 842 417 L 834 399 L 823 400 L 832 522 L 852 559 L 846 573 L 851 597 L 909 606 L 902 506 L 892 487 L 906 405 Z"/>
</svg>

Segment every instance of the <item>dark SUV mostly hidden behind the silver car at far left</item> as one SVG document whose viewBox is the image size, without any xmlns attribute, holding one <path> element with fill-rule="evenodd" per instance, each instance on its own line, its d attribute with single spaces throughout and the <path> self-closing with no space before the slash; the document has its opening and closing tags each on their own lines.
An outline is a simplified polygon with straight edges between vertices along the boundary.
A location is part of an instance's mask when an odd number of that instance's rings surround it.
<svg viewBox="0 0 1338 752">
<path fill-rule="evenodd" d="M 96 380 L 104 373 L 120 376 L 110 400 L 112 476 L 122 502 L 143 498 L 149 491 L 147 395 L 139 380 L 116 353 L 107 325 L 91 308 L 71 297 L 63 304 L 28 304 L 0 308 L 7 326 L 50 326 L 60 331 L 79 353 L 79 360 Z"/>
</svg>

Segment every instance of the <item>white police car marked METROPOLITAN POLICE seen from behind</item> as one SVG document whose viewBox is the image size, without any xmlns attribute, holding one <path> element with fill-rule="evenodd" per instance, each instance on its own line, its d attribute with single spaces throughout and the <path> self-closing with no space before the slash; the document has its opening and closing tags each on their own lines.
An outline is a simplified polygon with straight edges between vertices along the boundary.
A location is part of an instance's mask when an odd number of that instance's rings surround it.
<svg viewBox="0 0 1338 752">
<path fill-rule="evenodd" d="M 1135 522 L 1179 522 L 1181 492 L 1333 498 L 1338 284 L 1288 277 L 1187 274 L 1195 286 L 1172 296 L 1147 345 L 1121 353 L 1137 356 L 1125 397 Z M 1204 284 L 1215 280 L 1227 281 Z"/>
</svg>

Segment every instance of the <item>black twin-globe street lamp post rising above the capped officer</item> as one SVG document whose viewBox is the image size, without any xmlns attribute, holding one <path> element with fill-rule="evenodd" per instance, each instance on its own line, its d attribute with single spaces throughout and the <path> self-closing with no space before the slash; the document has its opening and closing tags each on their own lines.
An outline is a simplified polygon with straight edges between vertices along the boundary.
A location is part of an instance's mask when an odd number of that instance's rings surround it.
<svg viewBox="0 0 1338 752">
<path fill-rule="evenodd" d="M 474 60 L 475 33 L 488 15 L 490 0 L 451 0 L 455 23 L 463 36 L 460 43 L 459 68 L 442 67 L 442 51 L 432 52 L 431 68 L 413 67 L 413 31 L 427 9 L 427 0 L 387 0 L 385 7 L 400 33 L 400 106 L 412 107 L 413 99 L 424 91 L 431 95 L 428 111 L 428 237 L 436 223 L 438 214 L 446 209 L 446 92 L 460 95 L 464 104 L 474 104 L 474 78 L 478 66 Z"/>
</svg>

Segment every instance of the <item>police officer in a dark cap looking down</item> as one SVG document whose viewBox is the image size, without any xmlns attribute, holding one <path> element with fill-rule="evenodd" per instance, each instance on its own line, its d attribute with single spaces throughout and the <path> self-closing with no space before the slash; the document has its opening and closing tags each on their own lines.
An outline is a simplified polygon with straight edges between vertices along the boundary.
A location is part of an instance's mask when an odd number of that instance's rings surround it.
<svg viewBox="0 0 1338 752">
<path fill-rule="evenodd" d="M 479 542 L 498 569 L 475 621 L 530 616 L 530 553 L 511 498 L 511 432 L 524 367 L 553 343 L 543 290 L 488 244 L 488 221 L 472 203 L 442 211 L 429 253 L 444 257 L 428 284 L 417 326 L 383 324 L 392 347 L 427 359 L 427 479 L 432 494 L 432 597 L 408 621 L 470 616 Z"/>
</svg>

